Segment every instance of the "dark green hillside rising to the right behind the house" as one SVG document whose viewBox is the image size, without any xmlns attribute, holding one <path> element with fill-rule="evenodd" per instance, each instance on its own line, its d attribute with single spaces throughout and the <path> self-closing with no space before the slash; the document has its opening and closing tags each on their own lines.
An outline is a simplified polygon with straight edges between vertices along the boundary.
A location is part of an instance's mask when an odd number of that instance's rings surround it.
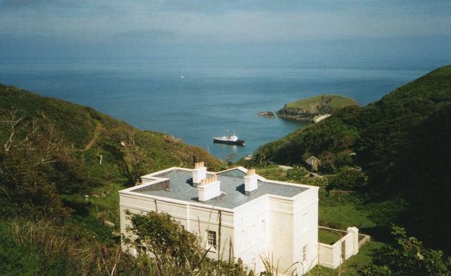
<svg viewBox="0 0 451 276">
<path fill-rule="evenodd" d="M 362 167 L 368 178 L 364 192 L 371 201 L 405 201 L 399 222 L 426 243 L 449 248 L 450 118 L 451 66 L 445 66 L 366 107 L 341 109 L 266 144 L 254 161 L 305 165 L 314 155 L 321 159 L 322 172 L 339 176 L 343 166 Z M 333 188 L 345 187 L 334 182 Z"/>
</svg>

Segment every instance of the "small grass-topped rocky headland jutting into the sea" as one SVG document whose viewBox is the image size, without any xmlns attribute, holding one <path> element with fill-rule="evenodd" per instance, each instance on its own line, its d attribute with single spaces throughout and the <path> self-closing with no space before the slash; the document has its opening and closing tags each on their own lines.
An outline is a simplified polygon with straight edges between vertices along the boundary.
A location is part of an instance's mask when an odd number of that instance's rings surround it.
<svg viewBox="0 0 451 276">
<path fill-rule="evenodd" d="M 332 114 L 335 111 L 352 105 L 358 105 L 355 100 L 340 95 L 320 95 L 285 104 L 276 111 L 279 118 L 290 120 L 312 120 L 315 116 Z"/>
</svg>

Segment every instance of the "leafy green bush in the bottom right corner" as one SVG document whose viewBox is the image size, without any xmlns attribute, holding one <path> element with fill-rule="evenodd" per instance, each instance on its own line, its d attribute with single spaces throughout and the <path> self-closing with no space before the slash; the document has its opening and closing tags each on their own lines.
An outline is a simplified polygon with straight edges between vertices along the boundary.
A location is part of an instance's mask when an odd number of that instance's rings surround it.
<svg viewBox="0 0 451 276">
<path fill-rule="evenodd" d="M 423 246 L 415 237 L 407 237 L 404 228 L 393 226 L 396 243 L 359 270 L 360 275 L 450 275 L 451 259 L 441 250 Z"/>
</svg>

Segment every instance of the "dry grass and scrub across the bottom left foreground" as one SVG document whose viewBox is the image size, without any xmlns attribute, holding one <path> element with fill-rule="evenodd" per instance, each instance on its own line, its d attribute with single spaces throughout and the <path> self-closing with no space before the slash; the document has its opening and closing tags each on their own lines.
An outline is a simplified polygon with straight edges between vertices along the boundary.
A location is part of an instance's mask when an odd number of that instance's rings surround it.
<svg viewBox="0 0 451 276">
<path fill-rule="evenodd" d="M 180 266 L 174 259 L 163 261 L 148 255 L 135 258 L 111 238 L 92 232 L 92 223 L 97 224 L 96 229 L 101 228 L 99 221 L 92 219 L 67 226 L 48 219 L 0 221 L 1 275 L 249 275 L 240 260 L 203 258 L 194 270 L 186 261 L 192 258 L 189 255 L 182 256 L 185 261 L 178 262 Z M 196 248 L 190 240 L 181 242 Z M 190 254 L 186 250 L 194 249 L 185 248 L 185 253 Z"/>
</svg>

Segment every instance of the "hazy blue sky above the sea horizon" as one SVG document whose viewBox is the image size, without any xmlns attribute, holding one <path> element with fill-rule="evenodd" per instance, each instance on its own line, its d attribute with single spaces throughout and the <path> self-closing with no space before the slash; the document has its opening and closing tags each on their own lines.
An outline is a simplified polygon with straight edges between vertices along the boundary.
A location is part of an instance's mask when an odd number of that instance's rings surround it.
<svg viewBox="0 0 451 276">
<path fill-rule="evenodd" d="M 451 57 L 450 0 L 0 0 L 0 26 L 0 58 Z"/>
</svg>

